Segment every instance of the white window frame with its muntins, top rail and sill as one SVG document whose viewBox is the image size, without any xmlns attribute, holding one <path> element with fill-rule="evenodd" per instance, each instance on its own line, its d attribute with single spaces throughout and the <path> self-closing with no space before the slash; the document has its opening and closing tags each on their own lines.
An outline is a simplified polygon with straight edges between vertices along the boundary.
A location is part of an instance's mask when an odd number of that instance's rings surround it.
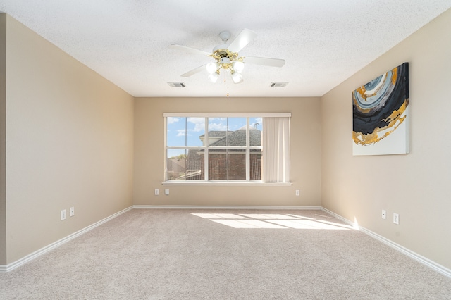
<svg viewBox="0 0 451 300">
<path fill-rule="evenodd" d="M 167 120 L 168 118 L 205 118 L 205 139 L 208 141 L 208 118 L 246 118 L 246 146 L 227 146 L 228 149 L 246 149 L 246 180 L 206 180 L 209 178 L 208 151 L 206 146 L 167 146 Z M 262 180 L 250 180 L 250 149 L 263 149 L 263 145 L 250 146 L 249 136 L 249 118 L 283 118 L 291 117 L 291 113 L 163 113 L 164 120 L 164 181 L 163 185 L 291 185 L 291 182 L 268 183 Z M 263 141 L 262 141 L 263 143 Z M 204 180 L 167 180 L 167 150 L 168 149 L 199 149 L 205 151 L 204 156 Z M 221 147 L 222 148 L 222 147 Z"/>
</svg>

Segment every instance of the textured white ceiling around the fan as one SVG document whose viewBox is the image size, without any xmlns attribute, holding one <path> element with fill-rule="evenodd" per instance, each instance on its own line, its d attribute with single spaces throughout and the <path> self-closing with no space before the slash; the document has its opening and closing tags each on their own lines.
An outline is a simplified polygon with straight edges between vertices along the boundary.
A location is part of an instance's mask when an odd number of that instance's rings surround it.
<svg viewBox="0 0 451 300">
<path fill-rule="evenodd" d="M 206 71 L 180 77 L 213 58 L 168 45 L 211 51 L 219 32 L 233 39 L 242 28 L 257 38 L 240 56 L 285 65 L 247 64 L 244 82 L 230 81 L 230 96 L 322 96 L 450 7 L 450 0 L 0 0 L 0 11 L 133 96 L 226 96 L 227 84 L 209 82 Z"/>
</svg>

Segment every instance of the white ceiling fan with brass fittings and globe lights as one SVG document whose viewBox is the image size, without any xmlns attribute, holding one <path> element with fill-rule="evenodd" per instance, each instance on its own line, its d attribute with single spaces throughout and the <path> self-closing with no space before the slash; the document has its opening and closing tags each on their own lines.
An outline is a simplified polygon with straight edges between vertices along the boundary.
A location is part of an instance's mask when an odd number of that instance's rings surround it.
<svg viewBox="0 0 451 300">
<path fill-rule="evenodd" d="M 257 33 L 249 29 L 243 29 L 235 39 L 233 39 L 230 44 L 228 44 L 228 39 L 230 39 L 230 32 L 223 31 L 219 34 L 219 37 L 223 40 L 223 44 L 214 47 L 211 53 L 190 48 L 187 46 L 180 45 L 169 45 L 169 48 L 187 51 L 191 54 L 202 54 L 204 56 L 211 56 L 214 58 L 214 62 L 207 63 L 206 65 L 201 65 L 198 68 L 188 71 L 182 74 L 182 77 L 189 77 L 196 73 L 202 72 L 202 70 L 207 70 L 209 73 L 209 80 L 211 82 L 216 82 L 218 80 L 220 70 L 223 69 L 229 72 L 234 83 L 242 82 L 242 70 L 245 67 L 245 63 L 253 63 L 256 65 L 268 65 L 271 67 L 282 67 L 285 64 L 284 59 L 279 58 L 264 58 L 264 57 L 254 57 L 254 56 L 239 56 L 240 52 L 249 42 L 251 42 Z"/>
</svg>

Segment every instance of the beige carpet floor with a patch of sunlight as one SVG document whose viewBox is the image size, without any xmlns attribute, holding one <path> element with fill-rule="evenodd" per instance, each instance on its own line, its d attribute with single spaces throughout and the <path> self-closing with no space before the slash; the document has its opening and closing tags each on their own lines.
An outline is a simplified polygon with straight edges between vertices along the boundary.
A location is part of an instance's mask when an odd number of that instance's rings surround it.
<svg viewBox="0 0 451 300">
<path fill-rule="evenodd" d="M 451 299 L 322 211 L 135 209 L 0 274 L 0 299 Z"/>
</svg>

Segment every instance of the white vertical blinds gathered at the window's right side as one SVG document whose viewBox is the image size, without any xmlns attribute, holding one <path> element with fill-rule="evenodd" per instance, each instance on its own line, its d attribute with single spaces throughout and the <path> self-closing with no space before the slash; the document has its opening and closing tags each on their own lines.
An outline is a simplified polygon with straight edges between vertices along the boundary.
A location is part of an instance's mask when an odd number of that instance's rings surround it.
<svg viewBox="0 0 451 300">
<path fill-rule="evenodd" d="M 290 182 L 290 118 L 263 118 L 263 181 Z"/>
</svg>

